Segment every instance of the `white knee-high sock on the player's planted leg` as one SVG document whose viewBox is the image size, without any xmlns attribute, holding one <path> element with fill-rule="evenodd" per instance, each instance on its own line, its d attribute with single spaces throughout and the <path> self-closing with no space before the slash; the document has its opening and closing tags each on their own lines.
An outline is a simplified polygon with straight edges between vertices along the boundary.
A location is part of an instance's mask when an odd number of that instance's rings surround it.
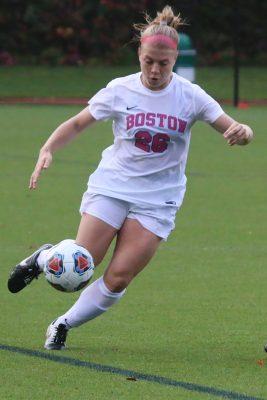
<svg viewBox="0 0 267 400">
<path fill-rule="evenodd" d="M 126 289 L 119 293 L 111 292 L 101 276 L 82 291 L 76 303 L 57 322 L 64 323 L 69 328 L 80 326 L 107 311 L 120 300 L 125 291 Z"/>
</svg>

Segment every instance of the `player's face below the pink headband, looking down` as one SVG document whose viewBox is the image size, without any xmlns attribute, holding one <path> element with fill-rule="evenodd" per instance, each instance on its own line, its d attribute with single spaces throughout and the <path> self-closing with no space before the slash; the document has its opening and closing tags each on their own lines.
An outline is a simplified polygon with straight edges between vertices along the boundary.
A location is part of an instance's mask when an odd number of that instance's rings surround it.
<svg viewBox="0 0 267 400">
<path fill-rule="evenodd" d="M 161 90 L 168 85 L 177 54 L 173 49 L 142 44 L 138 51 L 141 79 L 148 89 Z"/>
</svg>

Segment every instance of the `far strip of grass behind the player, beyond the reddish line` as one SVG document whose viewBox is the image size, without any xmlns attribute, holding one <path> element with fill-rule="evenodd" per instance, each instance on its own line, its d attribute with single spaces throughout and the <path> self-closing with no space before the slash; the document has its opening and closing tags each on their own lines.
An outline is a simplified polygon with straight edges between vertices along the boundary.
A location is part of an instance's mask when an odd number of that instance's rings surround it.
<svg viewBox="0 0 267 400">
<path fill-rule="evenodd" d="M 48 96 L 91 97 L 111 79 L 139 70 L 137 65 L 128 67 L 1 67 L 0 97 Z M 197 67 L 197 83 L 213 97 L 231 99 L 233 69 L 231 67 Z M 240 98 L 266 99 L 266 68 L 240 68 Z"/>
</svg>

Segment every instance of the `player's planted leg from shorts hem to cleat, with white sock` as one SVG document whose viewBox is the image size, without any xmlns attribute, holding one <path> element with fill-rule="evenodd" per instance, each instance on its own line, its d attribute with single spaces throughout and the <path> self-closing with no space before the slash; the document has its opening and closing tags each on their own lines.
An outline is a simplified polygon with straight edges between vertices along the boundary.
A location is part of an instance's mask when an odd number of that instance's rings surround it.
<svg viewBox="0 0 267 400">
<path fill-rule="evenodd" d="M 49 326 L 45 348 L 64 348 L 70 328 L 96 318 L 117 303 L 131 280 L 150 261 L 160 241 L 161 238 L 138 221 L 126 219 L 118 233 L 114 254 L 104 277 L 84 289 L 71 309 Z"/>
</svg>

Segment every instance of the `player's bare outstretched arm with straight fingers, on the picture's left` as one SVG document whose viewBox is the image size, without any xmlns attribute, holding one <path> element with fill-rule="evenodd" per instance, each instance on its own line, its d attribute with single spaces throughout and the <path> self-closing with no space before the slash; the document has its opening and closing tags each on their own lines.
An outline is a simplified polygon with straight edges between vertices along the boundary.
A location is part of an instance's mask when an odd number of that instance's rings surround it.
<svg viewBox="0 0 267 400">
<path fill-rule="evenodd" d="M 40 150 L 37 163 L 30 178 L 29 189 L 37 187 L 37 181 L 42 170 L 47 169 L 52 162 L 53 153 L 73 140 L 94 121 L 95 118 L 89 112 L 88 107 L 86 107 L 79 114 L 57 127 Z"/>
</svg>

